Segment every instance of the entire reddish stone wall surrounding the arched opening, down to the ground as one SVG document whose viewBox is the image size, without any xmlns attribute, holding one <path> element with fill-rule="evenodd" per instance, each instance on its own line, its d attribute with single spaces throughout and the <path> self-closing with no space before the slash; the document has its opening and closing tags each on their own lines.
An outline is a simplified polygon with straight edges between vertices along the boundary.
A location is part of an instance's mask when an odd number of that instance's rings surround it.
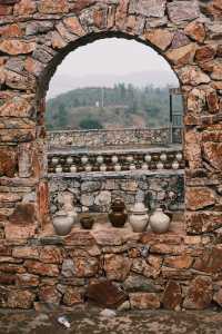
<svg viewBox="0 0 222 334">
<path fill-rule="evenodd" d="M 152 47 L 180 80 L 182 232 L 46 232 L 49 81 L 70 51 L 110 37 Z M 221 0 L 0 0 L 0 85 L 1 307 L 75 305 L 104 277 L 122 285 L 132 308 L 222 305 Z"/>
</svg>

